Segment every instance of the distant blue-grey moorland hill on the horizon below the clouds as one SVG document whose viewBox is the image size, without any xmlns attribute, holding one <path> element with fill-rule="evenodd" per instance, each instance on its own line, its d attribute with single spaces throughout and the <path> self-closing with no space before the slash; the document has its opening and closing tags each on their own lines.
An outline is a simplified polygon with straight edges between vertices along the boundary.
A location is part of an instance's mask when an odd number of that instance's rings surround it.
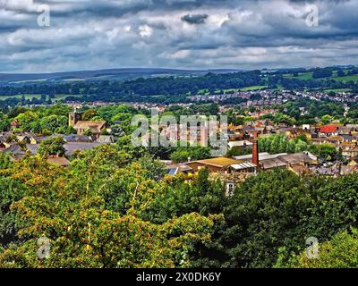
<svg viewBox="0 0 358 286">
<path fill-rule="evenodd" d="M 0 73 L 1 85 L 24 85 L 34 83 L 58 83 L 59 81 L 97 81 L 97 80 L 133 80 L 158 76 L 195 76 L 208 72 L 229 73 L 244 71 L 241 69 L 222 70 L 175 70 L 150 68 L 124 68 L 98 71 L 64 71 L 54 73 Z"/>
</svg>

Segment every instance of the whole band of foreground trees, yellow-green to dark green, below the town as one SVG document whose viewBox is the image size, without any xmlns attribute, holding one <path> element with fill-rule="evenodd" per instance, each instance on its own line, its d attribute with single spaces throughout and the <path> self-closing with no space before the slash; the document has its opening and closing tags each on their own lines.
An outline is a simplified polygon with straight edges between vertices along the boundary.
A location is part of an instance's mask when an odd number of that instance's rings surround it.
<svg viewBox="0 0 358 286">
<path fill-rule="evenodd" d="M 228 195 L 205 169 L 171 177 L 121 143 L 68 168 L 0 155 L 0 170 L 2 267 L 357 266 L 337 243 L 356 248 L 357 173 L 260 172 Z M 310 237 L 322 246 L 316 260 L 305 257 Z M 45 259 L 39 238 L 51 246 Z"/>
</svg>

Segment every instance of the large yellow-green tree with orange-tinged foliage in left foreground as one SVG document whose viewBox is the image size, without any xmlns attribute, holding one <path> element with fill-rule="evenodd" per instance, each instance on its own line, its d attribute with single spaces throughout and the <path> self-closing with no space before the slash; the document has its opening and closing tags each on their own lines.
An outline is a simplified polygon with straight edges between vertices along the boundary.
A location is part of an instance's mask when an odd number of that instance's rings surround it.
<svg viewBox="0 0 358 286">
<path fill-rule="evenodd" d="M 3 204 L 16 226 L 16 243 L 0 250 L 0 266 L 190 266 L 188 253 L 195 243 L 209 241 L 214 217 L 185 213 L 163 223 L 143 220 L 140 214 L 156 198 L 156 181 L 141 164 L 125 162 L 125 154 L 103 146 L 84 152 L 67 169 L 40 157 L 16 163 L 5 179 L 15 176 L 23 192 L 13 191 L 17 197 Z M 10 183 L 0 188 L 12 190 Z M 40 237 L 51 244 L 42 261 Z"/>
</svg>

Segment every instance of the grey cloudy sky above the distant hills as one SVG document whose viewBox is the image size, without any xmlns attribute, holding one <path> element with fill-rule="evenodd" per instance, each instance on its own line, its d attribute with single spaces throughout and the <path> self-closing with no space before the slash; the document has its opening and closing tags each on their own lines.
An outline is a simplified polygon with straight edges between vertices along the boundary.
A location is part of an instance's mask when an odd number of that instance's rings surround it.
<svg viewBox="0 0 358 286">
<path fill-rule="evenodd" d="M 0 0 L 0 71 L 357 64 L 357 12 L 358 0 Z"/>
</svg>

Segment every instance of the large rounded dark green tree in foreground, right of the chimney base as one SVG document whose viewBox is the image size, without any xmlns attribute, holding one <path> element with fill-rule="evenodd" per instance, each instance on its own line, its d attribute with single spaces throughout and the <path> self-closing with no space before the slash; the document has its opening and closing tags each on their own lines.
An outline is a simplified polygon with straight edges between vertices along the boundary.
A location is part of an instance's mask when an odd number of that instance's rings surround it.
<svg viewBox="0 0 358 286">
<path fill-rule="evenodd" d="M 277 248 L 297 251 L 302 220 L 312 205 L 310 185 L 289 171 L 261 172 L 234 192 L 225 210 L 229 267 L 271 267 Z"/>
</svg>

